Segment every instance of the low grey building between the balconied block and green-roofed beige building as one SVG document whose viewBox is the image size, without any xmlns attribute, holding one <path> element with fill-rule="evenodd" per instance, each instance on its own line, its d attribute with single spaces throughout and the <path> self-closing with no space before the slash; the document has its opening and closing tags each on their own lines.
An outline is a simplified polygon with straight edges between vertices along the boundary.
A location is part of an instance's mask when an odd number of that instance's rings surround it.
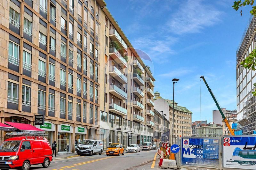
<svg viewBox="0 0 256 170">
<path fill-rule="evenodd" d="M 156 109 L 154 109 L 154 141 L 153 143 L 160 147 L 160 143 L 162 141 L 169 141 L 171 135 L 171 127 L 168 119 L 165 118 L 163 113 L 159 113 Z M 170 141 L 169 141 L 170 142 Z"/>
</svg>

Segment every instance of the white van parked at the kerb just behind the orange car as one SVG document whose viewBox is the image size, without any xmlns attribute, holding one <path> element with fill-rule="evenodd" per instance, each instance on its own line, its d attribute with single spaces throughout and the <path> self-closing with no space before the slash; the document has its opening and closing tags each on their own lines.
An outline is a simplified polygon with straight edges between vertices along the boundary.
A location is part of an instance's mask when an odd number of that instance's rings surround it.
<svg viewBox="0 0 256 170">
<path fill-rule="evenodd" d="M 99 153 L 99 155 L 101 155 L 102 151 L 103 151 L 102 140 L 92 140 L 92 139 L 82 140 L 76 148 L 76 153 L 78 155 L 80 154 L 93 155 L 94 153 Z"/>
</svg>

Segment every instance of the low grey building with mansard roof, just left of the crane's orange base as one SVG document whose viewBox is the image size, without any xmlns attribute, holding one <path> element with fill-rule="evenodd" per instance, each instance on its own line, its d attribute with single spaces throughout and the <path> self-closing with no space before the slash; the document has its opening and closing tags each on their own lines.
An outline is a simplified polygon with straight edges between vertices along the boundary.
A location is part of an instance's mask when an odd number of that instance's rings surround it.
<svg viewBox="0 0 256 170">
<path fill-rule="evenodd" d="M 197 137 L 221 137 L 222 124 L 209 123 L 201 124 L 196 128 Z"/>
</svg>

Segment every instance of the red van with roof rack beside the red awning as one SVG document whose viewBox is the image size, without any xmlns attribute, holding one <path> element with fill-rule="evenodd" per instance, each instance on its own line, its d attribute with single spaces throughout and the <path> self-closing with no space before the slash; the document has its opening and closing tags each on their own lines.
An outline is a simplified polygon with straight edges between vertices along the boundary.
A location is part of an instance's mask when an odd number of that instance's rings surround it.
<svg viewBox="0 0 256 170">
<path fill-rule="evenodd" d="M 47 168 L 52 161 L 52 149 L 45 137 L 22 136 L 6 139 L 0 145 L 0 169 L 21 168 L 42 164 Z"/>
</svg>

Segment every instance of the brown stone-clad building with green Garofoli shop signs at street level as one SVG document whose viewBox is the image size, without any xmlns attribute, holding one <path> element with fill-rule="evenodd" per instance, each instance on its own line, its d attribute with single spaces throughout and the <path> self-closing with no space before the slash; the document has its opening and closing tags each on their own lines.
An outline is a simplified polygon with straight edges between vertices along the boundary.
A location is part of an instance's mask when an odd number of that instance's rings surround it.
<svg viewBox="0 0 256 170">
<path fill-rule="evenodd" d="M 67 146 L 74 152 L 82 139 L 98 138 L 100 25 L 105 19 L 100 10 L 105 5 L 102 0 L 0 4 L 2 123 L 34 125 L 34 115 L 44 115 L 44 125 L 37 127 L 50 143 L 57 141 L 58 153 L 67 153 Z M 6 132 L 1 133 L 3 141 Z"/>
</svg>

